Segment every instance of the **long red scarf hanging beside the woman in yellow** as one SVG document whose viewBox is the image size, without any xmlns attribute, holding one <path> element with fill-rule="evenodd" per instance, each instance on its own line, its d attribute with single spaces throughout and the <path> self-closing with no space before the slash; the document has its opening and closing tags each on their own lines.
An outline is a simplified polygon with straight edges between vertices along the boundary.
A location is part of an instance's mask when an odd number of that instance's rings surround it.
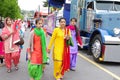
<svg viewBox="0 0 120 80">
<path fill-rule="evenodd" d="M 67 32 L 66 32 L 67 29 Z M 69 29 L 65 29 L 65 35 L 69 33 Z M 63 63 L 62 63 L 62 75 L 64 75 L 65 71 L 70 69 L 70 48 L 66 44 L 66 39 L 64 39 L 64 53 L 63 53 Z"/>
</svg>

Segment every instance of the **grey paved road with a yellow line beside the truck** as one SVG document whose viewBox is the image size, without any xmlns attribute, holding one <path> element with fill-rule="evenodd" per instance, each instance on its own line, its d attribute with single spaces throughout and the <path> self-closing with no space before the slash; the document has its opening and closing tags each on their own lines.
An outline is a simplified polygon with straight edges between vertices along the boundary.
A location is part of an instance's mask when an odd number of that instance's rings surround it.
<svg viewBox="0 0 120 80">
<path fill-rule="evenodd" d="M 15 71 L 12 68 L 11 73 L 6 72 L 5 66 L 0 67 L 0 80 L 29 80 L 27 72 L 27 62 L 25 61 L 25 54 L 27 48 L 27 39 L 29 30 L 25 34 L 24 49 L 21 53 L 19 70 Z M 49 37 L 47 38 L 47 43 Z M 92 56 L 87 55 L 85 51 L 80 51 L 77 58 L 76 71 L 69 71 L 65 74 L 64 80 L 120 80 L 120 64 L 116 63 L 103 63 L 96 64 Z M 51 54 L 49 55 L 51 58 Z M 105 69 L 105 70 L 104 70 Z M 110 73 L 111 72 L 111 73 Z M 112 75 L 111 75 L 112 74 Z M 50 59 L 50 65 L 46 66 L 42 80 L 55 80 L 53 78 L 53 62 Z"/>
</svg>

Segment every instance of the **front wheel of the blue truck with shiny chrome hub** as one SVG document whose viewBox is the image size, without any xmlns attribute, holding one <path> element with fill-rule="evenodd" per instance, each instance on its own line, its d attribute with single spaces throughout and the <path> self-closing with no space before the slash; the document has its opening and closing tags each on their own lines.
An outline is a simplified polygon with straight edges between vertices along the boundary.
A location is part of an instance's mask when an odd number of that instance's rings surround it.
<svg viewBox="0 0 120 80">
<path fill-rule="evenodd" d="M 96 62 L 100 62 L 99 58 L 102 56 L 101 52 L 102 52 L 102 43 L 101 43 L 101 36 L 100 35 L 96 35 L 92 42 L 91 42 L 91 53 L 93 55 L 93 58 Z"/>
</svg>

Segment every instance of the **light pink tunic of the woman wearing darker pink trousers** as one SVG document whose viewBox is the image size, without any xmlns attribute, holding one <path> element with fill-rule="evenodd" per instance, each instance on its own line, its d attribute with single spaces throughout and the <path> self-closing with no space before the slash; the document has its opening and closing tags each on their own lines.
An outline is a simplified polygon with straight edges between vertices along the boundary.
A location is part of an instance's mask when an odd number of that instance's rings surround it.
<svg viewBox="0 0 120 80">
<path fill-rule="evenodd" d="M 11 27 L 5 26 L 2 30 L 1 37 L 4 40 L 5 53 L 12 53 L 19 51 L 19 46 L 13 44 L 14 41 L 17 41 L 17 36 L 19 36 L 16 35 L 15 33 L 11 35 L 11 32 L 14 31 L 13 27 L 14 27 L 13 25 L 11 25 Z M 5 36 L 7 36 L 7 38 L 5 38 Z"/>
</svg>

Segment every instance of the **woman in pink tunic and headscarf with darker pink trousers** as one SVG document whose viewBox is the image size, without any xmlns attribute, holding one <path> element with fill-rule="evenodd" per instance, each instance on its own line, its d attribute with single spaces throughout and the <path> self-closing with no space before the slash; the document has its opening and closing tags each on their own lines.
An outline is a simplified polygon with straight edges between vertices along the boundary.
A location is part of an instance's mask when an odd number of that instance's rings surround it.
<svg viewBox="0 0 120 80">
<path fill-rule="evenodd" d="M 18 63 L 20 58 L 19 46 L 15 45 L 13 42 L 18 40 L 15 39 L 14 25 L 12 24 L 11 18 L 7 17 L 5 19 L 5 27 L 2 30 L 2 39 L 4 40 L 5 49 L 5 64 L 7 67 L 7 72 L 11 72 L 12 60 L 15 66 L 15 70 L 18 70 Z M 18 35 L 19 36 L 19 35 Z"/>
</svg>

